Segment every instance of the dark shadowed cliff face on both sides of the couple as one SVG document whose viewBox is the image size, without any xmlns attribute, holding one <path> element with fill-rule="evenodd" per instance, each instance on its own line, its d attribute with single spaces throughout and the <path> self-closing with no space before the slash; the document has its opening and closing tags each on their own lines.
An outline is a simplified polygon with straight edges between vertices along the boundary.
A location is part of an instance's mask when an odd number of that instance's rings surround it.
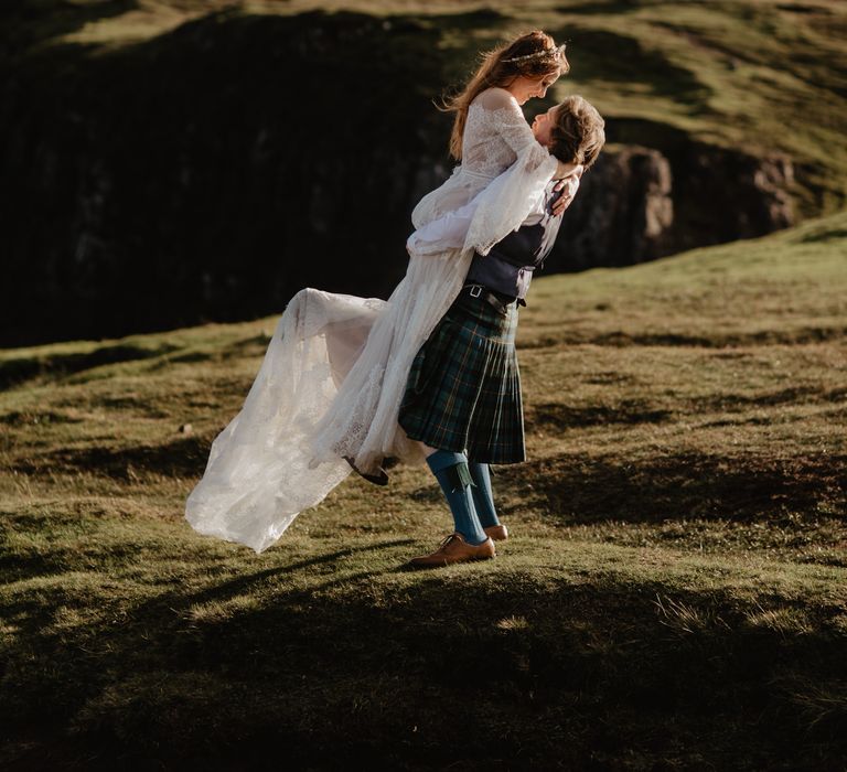
<svg viewBox="0 0 847 772">
<path fill-rule="evenodd" d="M 0 86 L 0 345 L 253 318 L 304 286 L 387 296 L 409 213 L 450 170 L 440 34 L 222 14 L 17 61 Z M 559 270 L 790 223 L 786 161 L 609 128 L 624 147 L 586 176 Z"/>
</svg>

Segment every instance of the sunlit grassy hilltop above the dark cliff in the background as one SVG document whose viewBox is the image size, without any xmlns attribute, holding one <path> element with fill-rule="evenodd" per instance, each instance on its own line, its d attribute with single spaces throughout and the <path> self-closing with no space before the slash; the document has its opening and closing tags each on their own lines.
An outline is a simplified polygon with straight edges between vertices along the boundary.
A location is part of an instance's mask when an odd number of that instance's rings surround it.
<svg viewBox="0 0 847 772">
<path fill-rule="evenodd" d="M 568 43 L 572 63 L 553 96 L 579 92 L 611 119 L 642 121 L 623 141 L 652 136 L 653 143 L 678 130 L 752 154 L 782 153 L 795 163 L 801 215 L 845 205 L 847 7 L 840 0 L 17 0 L 0 14 L 11 51 L 69 43 L 96 54 L 212 12 L 314 9 L 428 19 L 447 32 L 443 55 L 457 83 L 479 49 L 516 30 L 546 29 Z"/>
</svg>

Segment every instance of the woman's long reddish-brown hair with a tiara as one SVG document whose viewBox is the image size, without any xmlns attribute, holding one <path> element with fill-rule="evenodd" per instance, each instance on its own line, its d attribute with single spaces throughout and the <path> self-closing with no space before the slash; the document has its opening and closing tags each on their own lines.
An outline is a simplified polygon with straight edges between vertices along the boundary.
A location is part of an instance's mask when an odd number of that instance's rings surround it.
<svg viewBox="0 0 847 772">
<path fill-rule="evenodd" d="M 462 135 L 468 120 L 468 108 L 486 88 L 507 88 L 521 76 L 540 79 L 548 75 L 564 75 L 570 69 L 565 58 L 565 46 L 556 46 L 546 32 L 534 30 L 503 43 L 482 55 L 482 63 L 468 85 L 455 96 L 447 97 L 439 109 L 455 112 L 450 136 L 450 154 L 462 160 Z"/>
</svg>

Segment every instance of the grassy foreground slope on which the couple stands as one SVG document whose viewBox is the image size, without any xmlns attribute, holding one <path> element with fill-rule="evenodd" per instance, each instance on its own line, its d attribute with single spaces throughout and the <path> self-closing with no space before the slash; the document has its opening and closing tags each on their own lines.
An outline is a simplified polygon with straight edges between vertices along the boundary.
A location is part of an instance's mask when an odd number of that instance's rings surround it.
<svg viewBox="0 0 847 772">
<path fill-rule="evenodd" d="M 845 298 L 844 214 L 539 279 L 514 538 L 426 573 L 422 469 L 182 519 L 274 319 L 1 352 L 0 763 L 839 769 Z"/>
</svg>

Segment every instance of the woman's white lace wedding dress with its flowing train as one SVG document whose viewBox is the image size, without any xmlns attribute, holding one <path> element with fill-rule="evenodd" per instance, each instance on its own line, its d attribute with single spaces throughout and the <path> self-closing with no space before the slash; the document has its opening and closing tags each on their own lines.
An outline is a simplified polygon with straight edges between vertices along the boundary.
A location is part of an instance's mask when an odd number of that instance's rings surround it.
<svg viewBox="0 0 847 772">
<path fill-rule="evenodd" d="M 242 411 L 215 439 L 189 496 L 191 525 L 258 553 L 350 474 L 344 457 L 363 471 L 387 457 L 422 461 L 397 423 L 411 361 L 459 293 L 474 250 L 487 254 L 523 223 L 556 167 L 507 92 L 481 94 L 461 165 L 412 212 L 420 228 L 448 223 L 473 200 L 464 246 L 439 249 L 430 236 L 426 253 L 410 248 L 387 301 L 315 289 L 291 299 Z"/>
</svg>

